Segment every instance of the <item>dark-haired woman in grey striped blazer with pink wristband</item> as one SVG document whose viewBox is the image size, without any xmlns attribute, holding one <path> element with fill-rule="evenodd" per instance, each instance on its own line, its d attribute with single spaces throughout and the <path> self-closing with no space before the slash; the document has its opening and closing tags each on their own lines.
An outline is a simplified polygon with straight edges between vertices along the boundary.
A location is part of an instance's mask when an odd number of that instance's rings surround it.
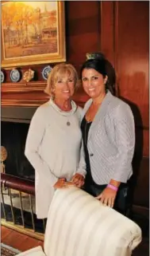
<svg viewBox="0 0 150 256">
<path fill-rule="evenodd" d="M 128 104 L 110 93 L 105 57 L 93 54 L 83 63 L 81 77 L 90 96 L 81 123 L 87 162 L 85 190 L 125 214 L 128 180 L 133 174 L 133 113 Z"/>
</svg>

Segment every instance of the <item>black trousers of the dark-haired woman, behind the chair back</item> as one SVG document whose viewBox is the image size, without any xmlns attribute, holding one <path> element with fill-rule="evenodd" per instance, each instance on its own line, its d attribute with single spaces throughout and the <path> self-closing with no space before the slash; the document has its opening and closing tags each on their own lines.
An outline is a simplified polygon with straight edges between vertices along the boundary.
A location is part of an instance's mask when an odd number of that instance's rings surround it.
<svg viewBox="0 0 150 256">
<path fill-rule="evenodd" d="M 98 185 L 94 183 L 85 183 L 84 191 L 87 191 L 90 195 L 98 196 L 106 188 L 107 184 Z M 127 183 L 121 183 L 118 188 L 117 196 L 114 202 L 113 209 L 119 211 L 122 215 L 129 215 L 129 198 L 128 198 L 129 186 Z"/>
</svg>

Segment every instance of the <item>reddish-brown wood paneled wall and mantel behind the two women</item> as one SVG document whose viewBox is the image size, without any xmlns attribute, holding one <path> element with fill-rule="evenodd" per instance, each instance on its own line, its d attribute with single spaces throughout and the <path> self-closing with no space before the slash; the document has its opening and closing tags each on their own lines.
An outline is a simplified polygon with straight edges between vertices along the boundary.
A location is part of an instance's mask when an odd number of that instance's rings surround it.
<svg viewBox="0 0 150 256">
<path fill-rule="evenodd" d="M 148 207 L 148 61 L 149 61 L 149 2 L 148 1 L 66 1 L 67 62 L 78 70 L 86 53 L 102 51 L 113 64 L 117 75 L 117 96 L 133 109 L 136 123 L 136 152 L 134 171 L 138 174 L 134 201 Z M 7 70 L 2 85 L 2 104 L 38 105 L 48 100 L 43 93 L 46 85 L 41 70 L 44 65 L 32 68 L 36 81 L 27 85 L 20 81 L 10 83 Z M 25 72 L 29 67 L 24 67 Z M 88 96 L 82 87 L 75 101 L 83 105 Z"/>
</svg>

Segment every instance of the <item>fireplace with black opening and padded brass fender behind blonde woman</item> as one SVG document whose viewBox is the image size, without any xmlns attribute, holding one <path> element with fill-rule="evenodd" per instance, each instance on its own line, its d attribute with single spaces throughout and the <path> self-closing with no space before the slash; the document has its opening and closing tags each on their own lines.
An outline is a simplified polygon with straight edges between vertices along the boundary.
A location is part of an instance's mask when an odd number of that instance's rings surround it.
<svg viewBox="0 0 150 256">
<path fill-rule="evenodd" d="M 25 140 L 36 107 L 2 107 L 1 146 L 6 148 L 1 175 L 2 225 L 43 240 L 45 220 L 35 215 L 35 171 L 25 157 Z"/>
</svg>

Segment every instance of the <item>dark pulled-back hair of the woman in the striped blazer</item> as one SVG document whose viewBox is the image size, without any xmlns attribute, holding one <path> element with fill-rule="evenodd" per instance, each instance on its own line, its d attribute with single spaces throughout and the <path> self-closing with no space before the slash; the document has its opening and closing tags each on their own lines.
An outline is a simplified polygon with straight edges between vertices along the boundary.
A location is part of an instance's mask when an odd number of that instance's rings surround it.
<svg viewBox="0 0 150 256">
<path fill-rule="evenodd" d="M 116 75 L 110 61 L 107 61 L 102 53 L 87 53 L 87 61 L 85 61 L 80 69 L 80 77 L 82 77 L 83 69 L 95 69 L 102 77 L 108 77 L 106 82 L 106 92 L 115 94 Z"/>
</svg>

